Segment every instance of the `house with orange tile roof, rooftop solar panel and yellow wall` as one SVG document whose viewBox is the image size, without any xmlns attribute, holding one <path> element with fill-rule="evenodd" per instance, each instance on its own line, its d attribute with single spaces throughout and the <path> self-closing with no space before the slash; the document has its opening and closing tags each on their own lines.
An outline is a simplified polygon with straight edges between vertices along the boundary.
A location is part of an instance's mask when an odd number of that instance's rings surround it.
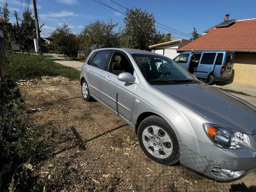
<svg viewBox="0 0 256 192">
<path fill-rule="evenodd" d="M 256 19 L 228 20 L 204 31 L 203 36 L 179 48 L 190 50 L 231 50 L 235 63 L 231 81 L 256 84 Z M 231 23 L 227 22 L 230 21 Z"/>
</svg>

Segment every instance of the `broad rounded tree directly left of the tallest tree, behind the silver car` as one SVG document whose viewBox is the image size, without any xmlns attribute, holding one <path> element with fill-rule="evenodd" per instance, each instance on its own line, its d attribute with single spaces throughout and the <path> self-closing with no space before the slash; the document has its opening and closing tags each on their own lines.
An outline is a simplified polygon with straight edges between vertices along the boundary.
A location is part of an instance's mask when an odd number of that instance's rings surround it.
<svg viewBox="0 0 256 192">
<path fill-rule="evenodd" d="M 113 24 L 112 19 L 108 23 L 102 20 L 90 22 L 78 36 L 79 47 L 84 52 L 92 49 L 120 47 L 120 29 L 115 31 L 118 23 Z"/>
</svg>

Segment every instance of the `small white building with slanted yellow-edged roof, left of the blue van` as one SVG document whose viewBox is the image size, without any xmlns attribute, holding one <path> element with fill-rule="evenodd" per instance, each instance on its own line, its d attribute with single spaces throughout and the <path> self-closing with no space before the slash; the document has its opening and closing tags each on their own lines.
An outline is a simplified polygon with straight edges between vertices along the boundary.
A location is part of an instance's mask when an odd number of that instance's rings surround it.
<svg viewBox="0 0 256 192">
<path fill-rule="evenodd" d="M 179 53 L 177 53 L 177 50 L 180 47 L 182 47 L 190 42 L 191 41 L 187 40 L 187 39 L 178 39 L 178 40 L 174 40 L 174 41 L 168 41 L 165 43 L 151 45 L 151 46 L 149 46 L 149 48 L 151 48 L 151 52 L 165 55 L 165 56 L 173 59 L 174 57 L 179 55 Z"/>
</svg>

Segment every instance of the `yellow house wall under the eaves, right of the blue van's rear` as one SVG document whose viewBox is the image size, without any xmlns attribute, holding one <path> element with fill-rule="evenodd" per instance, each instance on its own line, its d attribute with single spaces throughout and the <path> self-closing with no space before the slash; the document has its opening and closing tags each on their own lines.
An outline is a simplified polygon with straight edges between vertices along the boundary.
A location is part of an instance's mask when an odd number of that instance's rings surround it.
<svg viewBox="0 0 256 192">
<path fill-rule="evenodd" d="M 229 81 L 256 85 L 256 54 L 235 54 L 232 75 Z"/>
</svg>

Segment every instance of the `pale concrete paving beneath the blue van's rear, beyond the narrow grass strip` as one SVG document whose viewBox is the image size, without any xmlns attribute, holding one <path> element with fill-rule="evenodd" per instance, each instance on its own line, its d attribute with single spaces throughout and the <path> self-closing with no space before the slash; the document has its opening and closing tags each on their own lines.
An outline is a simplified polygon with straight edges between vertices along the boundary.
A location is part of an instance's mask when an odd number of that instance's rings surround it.
<svg viewBox="0 0 256 192">
<path fill-rule="evenodd" d="M 215 82 L 214 87 L 241 91 L 256 97 L 256 85 L 232 83 L 230 81 Z"/>
</svg>

